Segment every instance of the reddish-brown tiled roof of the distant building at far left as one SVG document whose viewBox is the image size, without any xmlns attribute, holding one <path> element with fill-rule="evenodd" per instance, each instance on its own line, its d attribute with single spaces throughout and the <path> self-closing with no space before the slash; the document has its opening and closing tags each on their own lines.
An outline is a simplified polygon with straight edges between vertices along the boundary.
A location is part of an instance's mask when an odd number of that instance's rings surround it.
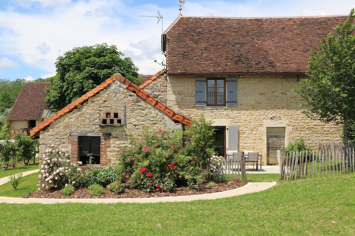
<svg viewBox="0 0 355 236">
<path fill-rule="evenodd" d="M 45 88 L 50 82 L 24 83 L 7 120 L 41 120 L 43 119 Z"/>
</svg>

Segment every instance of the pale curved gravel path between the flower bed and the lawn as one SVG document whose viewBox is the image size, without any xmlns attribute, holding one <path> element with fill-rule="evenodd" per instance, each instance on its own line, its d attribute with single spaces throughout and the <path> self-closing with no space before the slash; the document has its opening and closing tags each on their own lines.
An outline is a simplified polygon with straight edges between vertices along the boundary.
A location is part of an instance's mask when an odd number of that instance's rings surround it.
<svg viewBox="0 0 355 236">
<path fill-rule="evenodd" d="M 23 172 L 23 176 L 36 173 L 38 170 Z M 0 179 L 0 185 L 8 182 L 7 177 Z M 190 195 L 190 196 L 176 196 L 176 197 L 148 197 L 148 198 L 17 198 L 17 197 L 0 197 L 0 203 L 42 203 L 42 204 L 55 204 L 66 202 L 78 203 L 155 203 L 155 202 L 184 202 L 194 200 L 212 200 L 224 197 L 233 197 L 252 192 L 259 192 L 271 188 L 276 185 L 276 182 L 259 182 L 248 183 L 237 189 L 232 189 L 224 192 L 215 192 L 212 194 Z"/>
</svg>

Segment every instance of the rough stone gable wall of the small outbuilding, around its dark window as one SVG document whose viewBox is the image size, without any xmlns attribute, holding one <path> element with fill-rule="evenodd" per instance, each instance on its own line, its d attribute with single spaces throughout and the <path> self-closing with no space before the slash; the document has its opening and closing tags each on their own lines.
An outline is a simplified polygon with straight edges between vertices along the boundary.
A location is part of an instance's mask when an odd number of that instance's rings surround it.
<svg viewBox="0 0 355 236">
<path fill-rule="evenodd" d="M 62 115 L 46 130 L 40 132 L 40 153 L 54 144 L 56 148 L 71 152 L 72 161 L 77 160 L 77 133 L 103 133 L 101 138 L 101 158 L 103 164 L 115 164 L 116 146 L 130 145 L 127 134 L 138 136 L 143 127 L 181 129 L 181 124 L 174 123 L 168 116 L 155 109 L 135 93 L 126 90 L 125 85 L 114 81 L 108 88 L 78 109 Z M 121 125 L 101 125 L 100 119 L 106 111 L 119 113 Z M 124 115 L 125 114 L 125 115 Z M 126 123 L 124 123 L 126 121 Z M 110 137 L 107 137 L 107 133 Z M 41 155 L 42 156 L 42 155 Z"/>
</svg>

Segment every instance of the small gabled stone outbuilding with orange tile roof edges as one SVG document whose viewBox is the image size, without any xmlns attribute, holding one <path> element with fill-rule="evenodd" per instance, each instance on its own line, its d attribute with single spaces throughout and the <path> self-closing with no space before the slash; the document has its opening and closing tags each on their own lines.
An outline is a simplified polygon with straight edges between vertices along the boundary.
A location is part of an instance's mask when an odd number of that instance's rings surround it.
<svg viewBox="0 0 355 236">
<path fill-rule="evenodd" d="M 115 164 L 116 146 L 129 145 L 127 134 L 138 136 L 143 127 L 182 129 L 191 120 L 175 113 L 142 88 L 151 84 L 160 71 L 141 87 L 115 74 L 82 97 L 34 127 L 31 136 L 40 137 L 40 153 L 52 144 L 71 154 L 71 161 L 97 165 Z"/>
</svg>

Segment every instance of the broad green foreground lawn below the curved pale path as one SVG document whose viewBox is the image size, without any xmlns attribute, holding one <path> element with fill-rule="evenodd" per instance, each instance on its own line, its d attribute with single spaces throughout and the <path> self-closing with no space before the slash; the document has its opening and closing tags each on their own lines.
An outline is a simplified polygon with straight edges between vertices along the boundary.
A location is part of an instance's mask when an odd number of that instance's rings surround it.
<svg viewBox="0 0 355 236">
<path fill-rule="evenodd" d="M 269 179 L 248 175 L 248 179 L 254 178 Z M 1 235 L 355 235 L 354 180 L 353 173 L 278 181 L 276 186 L 262 192 L 193 202 L 1 203 L 0 232 Z"/>
</svg>

